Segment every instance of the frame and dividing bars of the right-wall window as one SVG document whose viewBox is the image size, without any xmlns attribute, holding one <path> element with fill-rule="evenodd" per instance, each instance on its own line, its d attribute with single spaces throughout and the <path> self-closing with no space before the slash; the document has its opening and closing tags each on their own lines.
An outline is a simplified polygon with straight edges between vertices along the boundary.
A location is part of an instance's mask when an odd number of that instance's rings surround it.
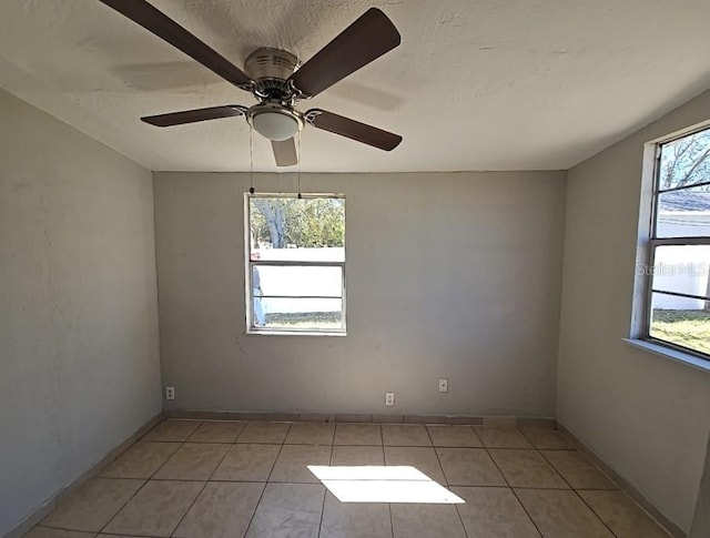
<svg viewBox="0 0 710 538">
<path fill-rule="evenodd" d="M 706 245 L 710 246 L 710 235 L 691 235 L 691 236 L 680 236 L 680 237 L 658 237 L 658 214 L 659 214 L 659 201 L 661 194 L 666 192 L 678 192 L 684 191 L 698 186 L 710 185 L 710 181 L 704 181 L 700 183 L 693 183 L 690 185 L 683 185 L 680 187 L 669 187 L 661 189 L 660 187 L 660 172 L 661 172 L 661 156 L 662 156 L 662 148 L 666 144 L 676 142 L 678 140 L 692 136 L 693 134 L 710 131 L 710 124 L 703 123 L 701 125 L 697 125 L 696 128 L 684 130 L 682 132 L 666 136 L 663 139 L 659 139 L 652 143 L 653 149 L 653 169 L 652 169 L 652 193 L 651 193 L 651 211 L 650 211 L 650 226 L 649 226 L 649 235 L 646 248 L 646 260 L 647 267 L 649 270 L 653 270 L 656 267 L 656 251 L 659 246 L 692 246 L 692 245 Z M 688 355 L 692 355 L 693 357 L 701 358 L 708 362 L 708 366 L 710 366 L 710 354 L 702 353 L 698 349 L 693 349 L 690 347 L 686 347 L 673 342 L 665 341 L 661 338 L 657 338 L 651 335 L 651 318 L 653 314 L 652 302 L 653 302 L 653 293 L 661 293 L 665 295 L 671 295 L 674 297 L 684 297 L 691 300 L 707 301 L 710 303 L 710 293 L 706 296 L 692 295 L 692 294 L 683 294 L 679 292 L 670 292 L 668 290 L 658 290 L 653 287 L 653 278 L 655 274 L 647 273 L 646 282 L 645 282 L 645 291 L 643 291 L 643 307 L 642 307 L 642 325 L 641 325 L 641 339 L 646 341 L 650 344 L 666 347 L 668 349 L 672 349 L 674 352 L 684 353 Z"/>
</svg>

